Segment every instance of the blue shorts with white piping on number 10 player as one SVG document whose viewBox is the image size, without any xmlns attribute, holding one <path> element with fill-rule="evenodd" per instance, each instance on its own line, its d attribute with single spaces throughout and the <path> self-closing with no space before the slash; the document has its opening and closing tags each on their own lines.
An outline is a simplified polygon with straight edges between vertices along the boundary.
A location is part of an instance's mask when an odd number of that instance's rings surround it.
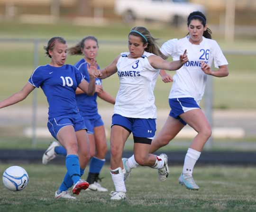
<svg viewBox="0 0 256 212">
<path fill-rule="evenodd" d="M 75 132 L 82 129 L 87 130 L 80 114 L 61 115 L 55 118 L 50 118 L 47 123 L 48 130 L 57 141 L 57 134 L 59 130 L 67 125 L 73 125 Z"/>
</svg>

